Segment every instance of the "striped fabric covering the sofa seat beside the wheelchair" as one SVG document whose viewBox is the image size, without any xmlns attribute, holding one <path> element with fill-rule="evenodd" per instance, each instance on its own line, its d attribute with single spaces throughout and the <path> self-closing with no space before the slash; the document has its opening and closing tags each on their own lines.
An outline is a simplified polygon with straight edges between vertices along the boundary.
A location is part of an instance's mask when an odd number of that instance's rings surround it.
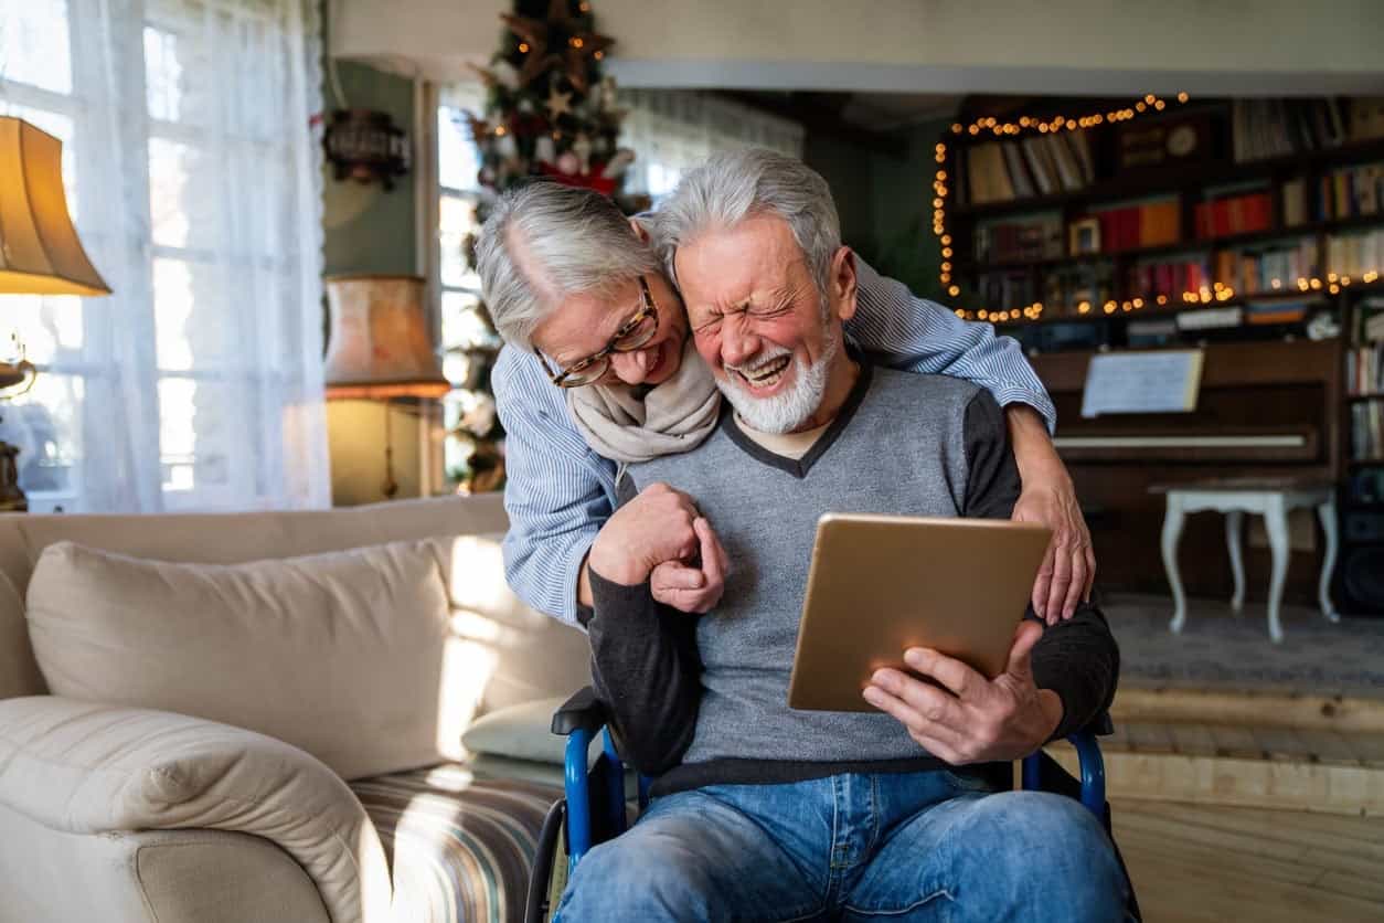
<svg viewBox="0 0 1384 923">
<path fill-rule="evenodd" d="M 400 923 L 518 923 L 538 830 L 562 789 L 459 764 L 353 782 L 389 855 Z"/>
</svg>

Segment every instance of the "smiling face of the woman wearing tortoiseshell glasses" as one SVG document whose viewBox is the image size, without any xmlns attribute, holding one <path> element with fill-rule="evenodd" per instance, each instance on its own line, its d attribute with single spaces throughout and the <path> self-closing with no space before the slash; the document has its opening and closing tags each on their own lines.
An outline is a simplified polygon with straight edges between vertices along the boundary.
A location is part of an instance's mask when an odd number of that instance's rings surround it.
<svg viewBox="0 0 1384 923">
<path fill-rule="evenodd" d="M 601 385 L 659 385 L 668 381 L 682 363 L 686 343 L 686 314 L 662 273 L 645 277 L 657 304 L 659 329 L 648 343 L 628 353 L 612 353 L 610 368 Z M 642 306 L 639 280 L 620 285 L 608 298 L 569 295 L 562 299 L 533 332 L 533 345 L 558 368 L 570 368 L 587 356 L 599 353 L 616 331 Z"/>
</svg>

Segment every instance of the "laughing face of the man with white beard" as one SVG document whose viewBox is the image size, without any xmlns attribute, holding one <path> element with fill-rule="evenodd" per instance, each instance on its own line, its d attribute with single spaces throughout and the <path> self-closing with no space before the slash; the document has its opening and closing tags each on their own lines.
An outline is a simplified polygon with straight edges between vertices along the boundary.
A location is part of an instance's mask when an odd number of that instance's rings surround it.
<svg viewBox="0 0 1384 923">
<path fill-rule="evenodd" d="M 758 216 L 709 231 L 677 253 L 678 282 L 698 353 L 740 417 L 764 432 L 793 432 L 810 422 L 841 350 L 840 321 L 855 310 L 850 263 L 832 262 L 825 299 L 793 231 Z"/>
</svg>

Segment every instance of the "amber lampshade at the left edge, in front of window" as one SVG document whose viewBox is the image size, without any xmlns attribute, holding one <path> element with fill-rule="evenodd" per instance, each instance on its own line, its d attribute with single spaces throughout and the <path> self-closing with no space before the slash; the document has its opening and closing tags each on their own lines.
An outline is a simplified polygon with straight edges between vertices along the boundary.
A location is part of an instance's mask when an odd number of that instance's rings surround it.
<svg viewBox="0 0 1384 923">
<path fill-rule="evenodd" d="M 0 116 L 0 292 L 109 295 L 62 191 L 62 141 Z"/>
</svg>

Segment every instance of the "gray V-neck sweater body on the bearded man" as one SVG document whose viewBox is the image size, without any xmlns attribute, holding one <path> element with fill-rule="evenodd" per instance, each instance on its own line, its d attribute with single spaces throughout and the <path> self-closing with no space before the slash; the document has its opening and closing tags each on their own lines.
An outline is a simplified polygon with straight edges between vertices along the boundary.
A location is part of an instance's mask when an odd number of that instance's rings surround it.
<svg viewBox="0 0 1384 923">
<path fill-rule="evenodd" d="M 727 412 L 695 451 L 630 466 L 621 497 L 655 482 L 691 494 L 731 558 L 721 605 L 698 623 L 703 692 L 684 764 L 925 756 L 886 714 L 787 707 L 812 541 L 826 512 L 1008 516 L 1019 480 L 994 399 L 954 378 L 862 367 L 803 459 L 761 448 Z"/>
</svg>

